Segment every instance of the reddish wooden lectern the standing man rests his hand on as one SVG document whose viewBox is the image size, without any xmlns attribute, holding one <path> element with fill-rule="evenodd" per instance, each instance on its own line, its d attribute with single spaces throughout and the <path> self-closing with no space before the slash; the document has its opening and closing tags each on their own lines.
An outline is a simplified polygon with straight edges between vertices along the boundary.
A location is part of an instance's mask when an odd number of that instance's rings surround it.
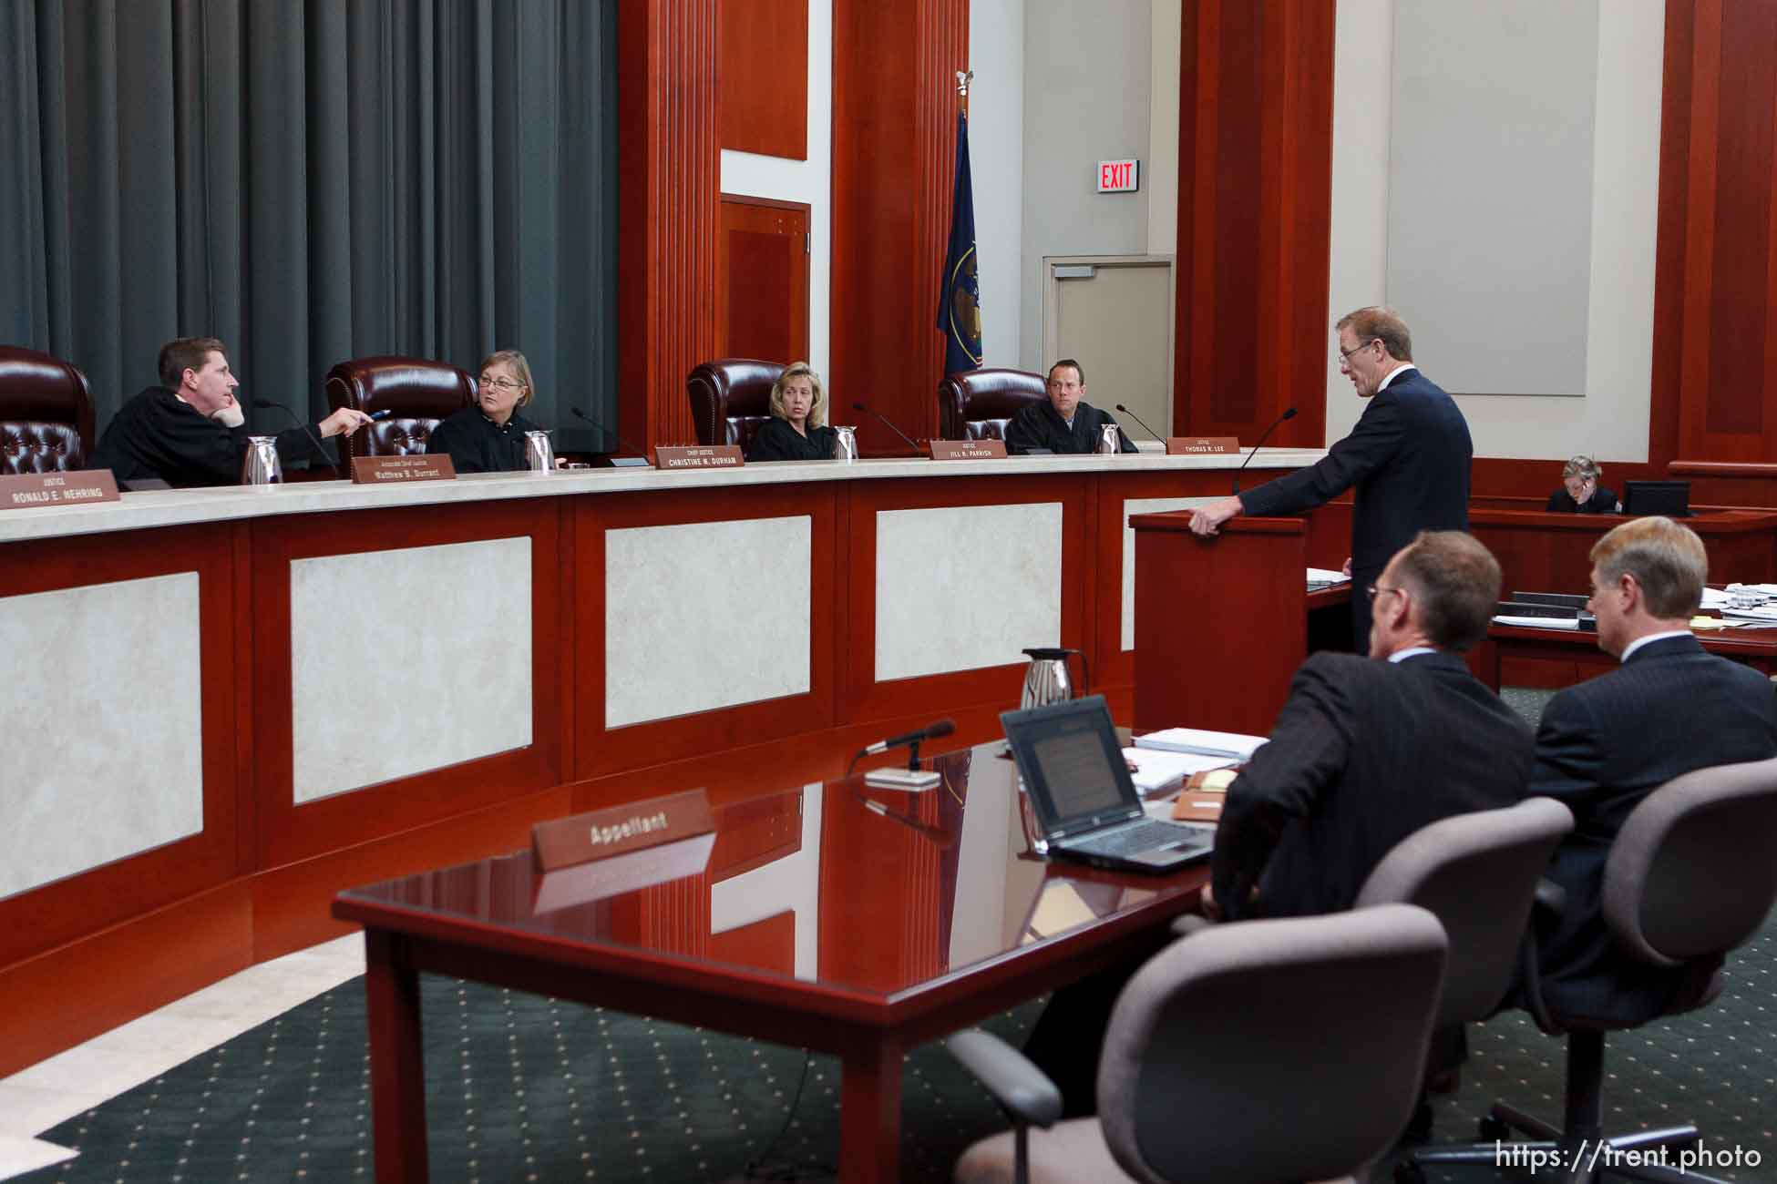
<svg viewBox="0 0 1777 1184">
<path fill-rule="evenodd" d="M 1308 591 L 1306 518 L 1233 518 L 1212 538 L 1191 533 L 1189 511 L 1134 515 L 1128 524 L 1136 731 L 1267 735 L 1303 659 L 1351 648 L 1351 586 Z"/>
</svg>

